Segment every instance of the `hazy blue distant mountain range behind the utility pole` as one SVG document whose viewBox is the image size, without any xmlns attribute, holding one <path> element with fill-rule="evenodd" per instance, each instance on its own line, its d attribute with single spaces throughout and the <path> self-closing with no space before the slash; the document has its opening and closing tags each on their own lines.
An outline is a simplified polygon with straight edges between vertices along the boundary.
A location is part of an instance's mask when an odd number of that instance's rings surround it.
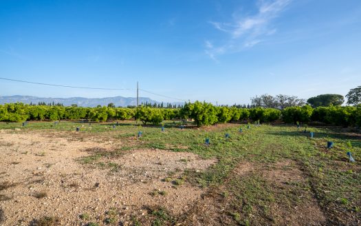
<svg viewBox="0 0 361 226">
<path fill-rule="evenodd" d="M 38 104 L 39 102 L 45 103 L 62 103 L 64 106 L 70 106 L 76 104 L 82 107 L 96 107 L 98 105 L 107 106 L 109 103 L 113 103 L 116 107 L 127 107 L 129 105 L 137 105 L 137 99 L 135 97 L 123 97 L 123 96 L 113 96 L 105 98 L 84 98 L 84 97 L 69 97 L 69 98 L 52 98 L 52 97 L 37 97 L 37 96 L 0 96 L 0 104 L 4 103 L 34 103 Z M 139 103 L 160 103 L 158 101 L 153 101 L 148 97 L 140 97 Z M 166 104 L 166 103 L 164 103 Z M 172 105 L 182 105 L 184 103 L 171 103 Z"/>
</svg>

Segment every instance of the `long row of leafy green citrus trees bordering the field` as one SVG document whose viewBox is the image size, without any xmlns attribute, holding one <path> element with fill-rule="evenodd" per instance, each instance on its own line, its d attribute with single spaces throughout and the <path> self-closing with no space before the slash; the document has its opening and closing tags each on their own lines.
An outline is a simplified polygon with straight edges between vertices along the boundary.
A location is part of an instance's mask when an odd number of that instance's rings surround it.
<svg viewBox="0 0 361 226">
<path fill-rule="evenodd" d="M 48 105 L 25 105 L 23 103 L 7 103 L 0 105 L 0 121 L 58 121 L 88 120 L 108 121 L 136 119 L 142 123 L 159 124 L 163 120 L 193 119 L 197 126 L 228 123 L 230 121 L 259 121 L 268 123 L 283 120 L 285 123 L 309 123 L 319 121 L 327 124 L 343 126 L 361 126 L 361 106 L 330 106 L 312 108 L 286 107 L 284 110 L 274 108 L 237 108 L 217 107 L 210 103 L 185 103 L 180 109 L 151 107 L 63 107 Z"/>
</svg>

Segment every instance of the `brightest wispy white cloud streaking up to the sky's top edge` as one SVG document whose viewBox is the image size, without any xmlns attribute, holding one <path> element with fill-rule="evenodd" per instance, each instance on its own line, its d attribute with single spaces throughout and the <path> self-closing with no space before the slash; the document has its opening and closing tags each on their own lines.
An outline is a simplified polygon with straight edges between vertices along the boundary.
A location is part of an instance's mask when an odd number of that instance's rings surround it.
<svg viewBox="0 0 361 226">
<path fill-rule="evenodd" d="M 226 40 L 219 41 L 216 46 L 211 41 L 205 41 L 206 54 L 217 61 L 217 55 L 228 52 L 239 52 L 245 48 L 261 43 L 264 37 L 276 33 L 272 20 L 279 16 L 292 0 L 259 1 L 257 11 L 250 15 L 233 14 L 230 22 L 210 21 L 213 27 L 228 34 Z M 217 61 L 218 62 L 218 61 Z"/>
</svg>

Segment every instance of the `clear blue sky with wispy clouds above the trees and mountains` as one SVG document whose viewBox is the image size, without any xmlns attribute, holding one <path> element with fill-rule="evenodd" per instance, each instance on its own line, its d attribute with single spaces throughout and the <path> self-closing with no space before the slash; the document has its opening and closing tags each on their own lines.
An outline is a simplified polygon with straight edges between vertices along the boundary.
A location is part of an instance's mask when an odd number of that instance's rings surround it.
<svg viewBox="0 0 361 226">
<path fill-rule="evenodd" d="M 361 85 L 360 0 L 0 1 L 0 77 L 190 101 Z M 135 96 L 0 81 L 0 95 Z M 177 101 L 140 92 L 158 101 Z"/>
</svg>

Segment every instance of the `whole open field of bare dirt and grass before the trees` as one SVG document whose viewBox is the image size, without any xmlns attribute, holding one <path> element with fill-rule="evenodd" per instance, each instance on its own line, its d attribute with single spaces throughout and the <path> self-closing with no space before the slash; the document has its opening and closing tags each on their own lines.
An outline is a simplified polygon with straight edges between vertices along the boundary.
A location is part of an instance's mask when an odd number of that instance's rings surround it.
<svg viewBox="0 0 361 226">
<path fill-rule="evenodd" d="M 361 225 L 361 134 L 179 125 L 0 123 L 0 225 Z"/>
</svg>

